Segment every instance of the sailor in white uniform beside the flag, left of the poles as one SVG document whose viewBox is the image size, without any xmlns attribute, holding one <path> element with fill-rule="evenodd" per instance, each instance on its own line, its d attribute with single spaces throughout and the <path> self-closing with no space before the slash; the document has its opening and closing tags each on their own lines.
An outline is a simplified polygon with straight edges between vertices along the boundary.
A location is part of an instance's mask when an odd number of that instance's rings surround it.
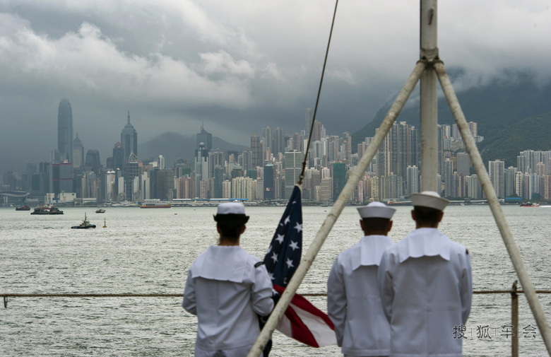
<svg viewBox="0 0 551 357">
<path fill-rule="evenodd" d="M 191 264 L 182 306 L 197 315 L 195 356 L 247 356 L 260 333 L 258 315 L 273 309 L 272 283 L 261 259 L 239 247 L 249 220 L 244 206 L 220 204 L 214 219 L 220 242 Z"/>
</svg>

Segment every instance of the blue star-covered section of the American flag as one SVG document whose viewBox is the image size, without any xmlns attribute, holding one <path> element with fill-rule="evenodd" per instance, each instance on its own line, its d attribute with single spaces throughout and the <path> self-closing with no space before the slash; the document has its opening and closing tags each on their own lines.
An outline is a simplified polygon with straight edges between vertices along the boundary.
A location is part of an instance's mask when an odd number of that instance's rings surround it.
<svg viewBox="0 0 551 357">
<path fill-rule="evenodd" d="M 295 186 L 278 228 L 264 257 L 272 283 L 287 286 L 302 254 L 302 204 L 300 188 Z"/>
</svg>

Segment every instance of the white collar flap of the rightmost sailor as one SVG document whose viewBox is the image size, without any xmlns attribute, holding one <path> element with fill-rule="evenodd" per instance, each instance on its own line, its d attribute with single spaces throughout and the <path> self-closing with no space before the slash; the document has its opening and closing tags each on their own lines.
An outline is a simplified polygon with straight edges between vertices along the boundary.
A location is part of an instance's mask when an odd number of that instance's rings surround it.
<svg viewBox="0 0 551 357">
<path fill-rule="evenodd" d="M 450 245 L 451 240 L 437 228 L 419 228 L 398 242 L 398 256 L 401 263 L 408 258 L 436 255 L 449 260 Z"/>
</svg>

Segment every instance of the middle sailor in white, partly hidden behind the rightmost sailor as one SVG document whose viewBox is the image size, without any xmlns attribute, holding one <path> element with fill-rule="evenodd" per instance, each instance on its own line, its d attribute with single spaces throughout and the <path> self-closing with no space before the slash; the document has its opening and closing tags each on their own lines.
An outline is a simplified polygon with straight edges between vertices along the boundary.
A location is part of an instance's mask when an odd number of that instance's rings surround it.
<svg viewBox="0 0 551 357">
<path fill-rule="evenodd" d="M 338 254 L 327 281 L 327 312 L 345 356 L 389 356 L 390 327 L 377 271 L 384 250 L 393 245 L 387 234 L 396 209 L 372 202 L 357 210 L 365 237 Z"/>
</svg>

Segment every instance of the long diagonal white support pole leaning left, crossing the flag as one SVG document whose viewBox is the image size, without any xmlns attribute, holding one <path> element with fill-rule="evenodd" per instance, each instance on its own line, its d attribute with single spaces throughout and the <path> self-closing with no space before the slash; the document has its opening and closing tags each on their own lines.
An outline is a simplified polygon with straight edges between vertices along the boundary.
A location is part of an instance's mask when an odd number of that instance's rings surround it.
<svg viewBox="0 0 551 357">
<path fill-rule="evenodd" d="M 298 287 L 302 282 L 302 279 L 304 279 L 304 276 L 307 274 L 308 269 L 312 266 L 312 263 L 314 262 L 316 255 L 321 249 L 321 246 L 324 244 L 327 235 L 329 234 L 329 232 L 331 232 L 333 224 L 337 221 L 338 216 L 340 216 L 340 212 L 343 211 L 344 206 L 346 205 L 346 201 L 350 199 L 352 192 L 357 186 L 357 183 L 360 181 L 360 177 L 364 175 L 367 166 L 369 165 L 369 163 L 371 163 L 371 160 L 373 160 L 377 151 L 379 151 L 379 147 L 383 143 L 386 134 L 389 132 L 394 122 L 396 122 L 396 117 L 398 117 L 398 114 L 400 114 L 403 106 L 405 105 L 405 102 L 408 100 L 410 94 L 413 92 L 413 89 L 419 81 L 419 78 L 421 77 L 423 71 L 425 71 L 426 66 L 426 62 L 423 61 L 419 61 L 415 65 L 415 68 L 410 74 L 408 81 L 405 82 L 400 93 L 398 93 L 398 97 L 396 97 L 396 100 L 394 100 L 392 107 L 386 114 L 386 117 L 384 117 L 384 120 L 381 123 L 379 130 L 373 137 L 372 142 L 369 144 L 369 146 L 367 146 L 367 150 L 362 156 L 362 159 L 356 166 L 352 175 L 350 175 L 350 177 L 348 178 L 348 181 L 346 182 L 345 187 L 343 187 L 343 191 L 340 192 L 337 201 L 335 202 L 335 204 L 333 204 L 333 209 L 331 209 L 331 212 L 329 212 L 329 214 L 327 215 L 324 223 L 321 225 L 321 228 L 319 228 L 319 231 L 316 234 L 316 238 L 314 238 L 312 244 L 308 249 L 308 252 L 302 258 L 302 261 L 297 267 L 295 274 L 293 274 L 287 288 L 285 288 L 285 291 L 281 295 L 278 304 L 275 305 L 275 308 L 273 309 L 270 317 L 268 318 L 268 321 L 264 325 L 261 333 L 259 334 L 259 337 L 256 339 L 256 342 L 252 346 L 251 351 L 249 351 L 247 357 L 258 357 L 262 353 L 264 346 L 266 346 L 266 343 L 271 338 L 275 326 L 281 320 L 281 317 L 283 317 L 283 314 L 285 313 L 285 310 L 287 309 L 292 297 L 297 292 Z"/>
</svg>

